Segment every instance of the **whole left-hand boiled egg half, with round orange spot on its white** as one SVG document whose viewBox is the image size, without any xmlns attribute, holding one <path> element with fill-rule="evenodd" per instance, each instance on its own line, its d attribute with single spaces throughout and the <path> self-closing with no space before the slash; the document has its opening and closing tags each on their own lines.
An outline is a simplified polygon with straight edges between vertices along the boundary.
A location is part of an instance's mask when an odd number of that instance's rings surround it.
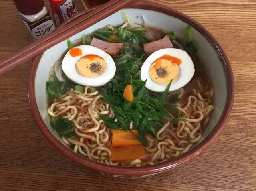
<svg viewBox="0 0 256 191">
<path fill-rule="evenodd" d="M 115 62 L 99 48 L 81 45 L 67 52 L 62 61 L 67 77 L 84 86 L 103 86 L 115 75 Z"/>
</svg>

